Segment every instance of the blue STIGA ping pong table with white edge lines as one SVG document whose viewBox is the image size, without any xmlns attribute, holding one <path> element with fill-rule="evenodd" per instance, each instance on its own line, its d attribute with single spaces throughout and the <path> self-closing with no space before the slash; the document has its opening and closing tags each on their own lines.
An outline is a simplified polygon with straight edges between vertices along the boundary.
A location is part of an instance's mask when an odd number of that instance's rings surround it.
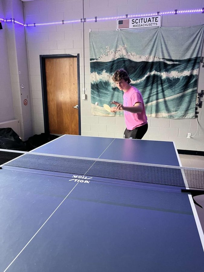
<svg viewBox="0 0 204 272">
<path fill-rule="evenodd" d="M 164 141 L 63 135 L 30 153 L 181 165 Z M 86 173 L 2 166 L 0 271 L 204 271 L 191 195 Z"/>
</svg>

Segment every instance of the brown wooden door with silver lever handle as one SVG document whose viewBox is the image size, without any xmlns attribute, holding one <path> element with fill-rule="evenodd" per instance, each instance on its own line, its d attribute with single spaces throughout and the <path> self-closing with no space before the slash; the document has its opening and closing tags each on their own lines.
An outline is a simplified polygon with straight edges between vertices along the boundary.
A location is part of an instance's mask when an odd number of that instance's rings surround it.
<svg viewBox="0 0 204 272">
<path fill-rule="evenodd" d="M 44 63 L 49 132 L 79 135 L 77 57 L 49 57 Z"/>
</svg>

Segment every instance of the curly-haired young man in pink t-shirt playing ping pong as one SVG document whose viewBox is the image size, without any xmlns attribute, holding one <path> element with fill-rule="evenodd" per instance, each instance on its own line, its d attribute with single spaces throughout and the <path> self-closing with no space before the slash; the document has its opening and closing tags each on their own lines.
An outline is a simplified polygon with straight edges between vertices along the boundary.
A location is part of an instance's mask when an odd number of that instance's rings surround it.
<svg viewBox="0 0 204 272">
<path fill-rule="evenodd" d="M 124 92 L 123 104 L 116 101 L 111 102 L 116 105 L 116 107 L 111 108 L 112 112 L 124 111 L 127 128 L 125 129 L 123 138 L 142 139 L 147 132 L 148 124 L 141 92 L 129 84 L 131 80 L 127 72 L 123 69 L 117 70 L 112 80 L 118 89 Z"/>
</svg>

